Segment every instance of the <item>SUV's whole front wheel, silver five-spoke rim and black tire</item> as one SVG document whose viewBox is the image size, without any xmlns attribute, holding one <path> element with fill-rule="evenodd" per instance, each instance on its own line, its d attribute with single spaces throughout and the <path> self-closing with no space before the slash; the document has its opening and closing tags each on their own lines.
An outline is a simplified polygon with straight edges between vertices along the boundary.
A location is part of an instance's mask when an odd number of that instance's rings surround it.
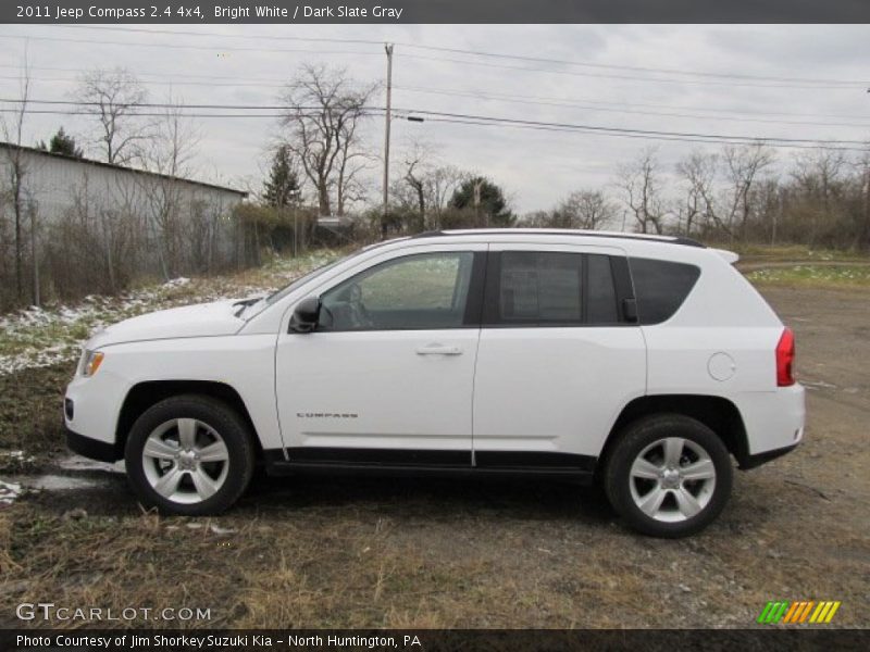
<svg viewBox="0 0 870 652">
<path fill-rule="evenodd" d="M 145 505 L 198 516 L 223 512 L 238 500 L 253 473 L 254 450 L 232 408 L 190 394 L 146 410 L 130 429 L 124 459 Z"/>
</svg>

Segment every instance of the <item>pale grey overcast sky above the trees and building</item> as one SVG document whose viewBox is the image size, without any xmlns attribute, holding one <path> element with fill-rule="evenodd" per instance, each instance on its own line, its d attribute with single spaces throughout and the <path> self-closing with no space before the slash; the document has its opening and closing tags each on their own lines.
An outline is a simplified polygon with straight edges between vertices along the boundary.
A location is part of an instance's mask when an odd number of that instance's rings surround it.
<svg viewBox="0 0 870 652">
<path fill-rule="evenodd" d="M 159 33 L 0 26 L 0 96 L 17 97 L 25 48 L 21 37 L 25 36 L 29 37 L 30 97 L 35 100 L 69 99 L 80 72 L 119 65 L 141 79 L 152 101 L 164 99 L 172 90 L 191 104 L 274 104 L 283 82 L 303 62 L 347 67 L 363 83 L 383 80 L 385 55 L 380 45 L 291 40 L 364 39 L 397 43 L 393 96 L 397 110 L 696 134 L 870 139 L 868 25 L 135 28 Z M 170 30 L 192 34 L 165 34 Z M 446 53 L 410 45 L 561 60 L 573 65 Z M 377 103 L 383 103 L 383 97 Z M 265 148 L 276 129 L 274 120 L 197 122 L 201 133 L 196 162 L 199 178 L 234 186 L 261 183 Z M 92 125 L 78 116 L 29 115 L 25 142 L 48 140 L 60 125 L 83 140 L 92 133 Z M 368 122 L 365 135 L 380 154 L 383 120 Z M 393 128 L 394 171 L 400 170 L 402 150 L 413 138 L 431 143 L 443 162 L 493 178 L 520 213 L 549 208 L 575 189 L 612 183 L 619 162 L 650 145 L 658 146 L 667 171 L 693 148 L 718 149 L 713 145 L 398 120 Z M 783 173 L 795 153 L 778 150 Z M 372 202 L 380 197 L 378 175 L 373 168 Z"/>
</svg>

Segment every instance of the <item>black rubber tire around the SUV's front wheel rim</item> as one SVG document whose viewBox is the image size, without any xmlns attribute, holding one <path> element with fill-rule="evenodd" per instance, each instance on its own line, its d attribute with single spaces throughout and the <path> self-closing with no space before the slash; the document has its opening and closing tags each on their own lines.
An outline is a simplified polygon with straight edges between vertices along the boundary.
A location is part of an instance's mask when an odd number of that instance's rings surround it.
<svg viewBox="0 0 870 652">
<path fill-rule="evenodd" d="M 228 471 L 223 485 L 206 500 L 181 503 L 164 498 L 149 482 L 142 451 L 149 436 L 165 422 L 194 418 L 213 428 L 226 444 Z M 183 394 L 156 403 L 146 410 L 129 431 L 124 449 L 127 478 L 146 507 L 163 514 L 204 516 L 219 514 L 235 503 L 248 488 L 254 467 L 252 435 L 245 421 L 227 404 L 200 394 Z"/>
</svg>

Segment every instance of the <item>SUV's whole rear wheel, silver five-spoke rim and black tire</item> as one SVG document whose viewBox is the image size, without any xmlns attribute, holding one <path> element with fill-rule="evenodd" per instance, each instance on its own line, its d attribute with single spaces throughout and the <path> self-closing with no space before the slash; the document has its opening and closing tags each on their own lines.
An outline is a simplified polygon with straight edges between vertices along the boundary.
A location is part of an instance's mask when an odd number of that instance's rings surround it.
<svg viewBox="0 0 870 652">
<path fill-rule="evenodd" d="M 605 489 L 634 529 L 684 537 L 722 512 L 732 479 L 731 457 L 716 432 L 694 418 L 661 414 L 621 434 L 608 457 Z"/>
</svg>

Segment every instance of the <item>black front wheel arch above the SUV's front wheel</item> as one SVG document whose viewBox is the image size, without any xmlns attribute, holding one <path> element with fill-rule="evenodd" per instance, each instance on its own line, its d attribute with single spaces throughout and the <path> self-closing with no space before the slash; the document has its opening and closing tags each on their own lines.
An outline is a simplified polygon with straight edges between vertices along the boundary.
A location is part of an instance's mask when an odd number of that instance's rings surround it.
<svg viewBox="0 0 870 652">
<path fill-rule="evenodd" d="M 233 386 L 216 380 L 146 380 L 134 385 L 127 396 L 124 397 L 124 402 L 117 416 L 117 425 L 115 426 L 116 457 L 119 460 L 124 457 L 124 447 L 127 443 L 129 430 L 146 410 L 164 399 L 182 394 L 210 397 L 233 408 L 245 421 L 250 434 L 253 436 L 257 460 L 262 460 L 262 444 L 248 406 Z"/>
</svg>

